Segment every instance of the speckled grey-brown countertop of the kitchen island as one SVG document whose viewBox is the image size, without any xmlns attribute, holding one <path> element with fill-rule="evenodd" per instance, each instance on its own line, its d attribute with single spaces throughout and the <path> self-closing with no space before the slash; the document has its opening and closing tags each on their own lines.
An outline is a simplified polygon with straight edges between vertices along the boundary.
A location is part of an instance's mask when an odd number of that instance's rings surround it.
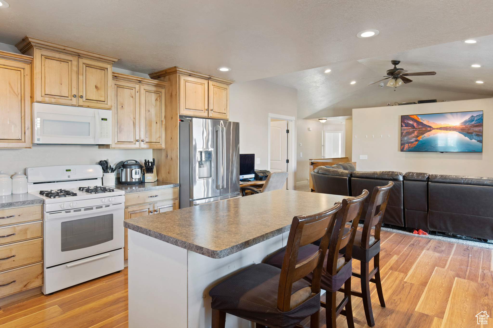
<svg viewBox="0 0 493 328">
<path fill-rule="evenodd" d="M 330 209 L 347 196 L 274 190 L 125 220 L 125 228 L 220 259 L 289 231 L 296 215 Z"/>
</svg>

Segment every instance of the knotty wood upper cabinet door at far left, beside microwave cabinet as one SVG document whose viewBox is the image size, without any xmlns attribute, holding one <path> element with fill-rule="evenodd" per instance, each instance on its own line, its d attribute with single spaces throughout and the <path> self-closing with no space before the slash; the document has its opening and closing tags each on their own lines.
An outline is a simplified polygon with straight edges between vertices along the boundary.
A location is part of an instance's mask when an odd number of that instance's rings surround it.
<svg viewBox="0 0 493 328">
<path fill-rule="evenodd" d="M 31 147 L 31 65 L 0 60 L 0 148 Z"/>
</svg>

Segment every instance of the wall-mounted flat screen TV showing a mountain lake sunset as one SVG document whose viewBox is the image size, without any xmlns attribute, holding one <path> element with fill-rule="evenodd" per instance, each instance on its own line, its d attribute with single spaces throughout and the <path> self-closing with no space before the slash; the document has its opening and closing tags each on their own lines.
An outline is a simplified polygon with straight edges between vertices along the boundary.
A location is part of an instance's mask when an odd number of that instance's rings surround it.
<svg viewBox="0 0 493 328">
<path fill-rule="evenodd" d="M 401 151 L 482 152 L 483 111 L 403 115 Z"/>
</svg>

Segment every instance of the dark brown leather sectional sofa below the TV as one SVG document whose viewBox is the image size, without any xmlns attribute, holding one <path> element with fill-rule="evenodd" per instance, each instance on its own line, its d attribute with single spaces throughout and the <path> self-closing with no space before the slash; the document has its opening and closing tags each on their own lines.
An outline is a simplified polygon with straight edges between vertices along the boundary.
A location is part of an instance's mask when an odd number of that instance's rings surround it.
<svg viewBox="0 0 493 328">
<path fill-rule="evenodd" d="M 410 229 L 493 239 L 493 178 L 317 167 L 316 192 L 356 196 L 394 182 L 383 223 Z M 364 208 L 362 217 L 366 213 Z"/>
</svg>

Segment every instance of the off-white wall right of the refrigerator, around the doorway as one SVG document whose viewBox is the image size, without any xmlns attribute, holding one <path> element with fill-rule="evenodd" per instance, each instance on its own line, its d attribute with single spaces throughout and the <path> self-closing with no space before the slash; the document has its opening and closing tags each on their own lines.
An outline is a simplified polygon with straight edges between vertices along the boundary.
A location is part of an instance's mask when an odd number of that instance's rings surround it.
<svg viewBox="0 0 493 328">
<path fill-rule="evenodd" d="M 296 117 L 297 90 L 264 80 L 234 83 L 229 88 L 229 120 L 240 122 L 240 153 L 255 154 L 267 169 L 269 113 Z M 296 140 L 296 129 L 289 131 Z M 294 161 L 293 161 L 294 162 Z M 296 167 L 293 167 L 296 170 Z"/>
</svg>

